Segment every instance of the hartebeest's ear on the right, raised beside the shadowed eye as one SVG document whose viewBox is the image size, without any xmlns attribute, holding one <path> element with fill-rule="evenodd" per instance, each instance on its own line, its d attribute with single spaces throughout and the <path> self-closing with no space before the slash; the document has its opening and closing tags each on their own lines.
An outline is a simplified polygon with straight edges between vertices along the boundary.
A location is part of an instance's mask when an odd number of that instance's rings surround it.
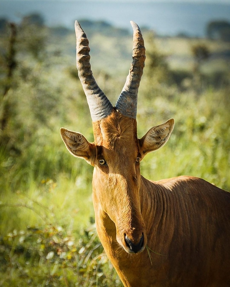
<svg viewBox="0 0 230 287">
<path fill-rule="evenodd" d="M 170 119 L 162 125 L 151 128 L 141 139 L 139 139 L 140 152 L 143 155 L 157 150 L 169 139 L 174 128 L 174 119 Z"/>
</svg>

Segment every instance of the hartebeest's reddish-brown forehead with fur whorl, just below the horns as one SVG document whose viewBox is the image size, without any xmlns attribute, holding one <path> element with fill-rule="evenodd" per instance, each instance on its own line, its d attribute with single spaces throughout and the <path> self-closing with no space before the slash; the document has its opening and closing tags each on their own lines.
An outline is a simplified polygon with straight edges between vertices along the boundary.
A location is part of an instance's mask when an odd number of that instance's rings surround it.
<svg viewBox="0 0 230 287">
<path fill-rule="evenodd" d="M 97 145 L 109 150 L 137 146 L 137 122 L 114 110 L 109 116 L 98 121 L 97 127 L 94 128 L 94 138 Z"/>
</svg>

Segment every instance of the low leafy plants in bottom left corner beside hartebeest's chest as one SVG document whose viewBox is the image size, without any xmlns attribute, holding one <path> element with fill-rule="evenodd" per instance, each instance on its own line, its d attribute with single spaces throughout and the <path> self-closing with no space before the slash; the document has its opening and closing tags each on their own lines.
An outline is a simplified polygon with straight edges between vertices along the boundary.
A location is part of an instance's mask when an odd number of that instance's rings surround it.
<svg viewBox="0 0 230 287">
<path fill-rule="evenodd" d="M 1 286 L 112 286 L 119 282 L 95 227 L 80 239 L 61 226 L 30 227 L 0 238 Z M 117 284 L 121 286 L 121 284 Z"/>
</svg>

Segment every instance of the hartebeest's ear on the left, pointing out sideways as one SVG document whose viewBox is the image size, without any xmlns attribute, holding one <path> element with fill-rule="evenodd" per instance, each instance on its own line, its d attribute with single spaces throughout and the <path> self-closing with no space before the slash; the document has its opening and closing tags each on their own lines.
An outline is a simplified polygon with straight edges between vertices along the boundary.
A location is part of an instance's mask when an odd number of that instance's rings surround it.
<svg viewBox="0 0 230 287">
<path fill-rule="evenodd" d="M 96 155 L 95 145 L 89 143 L 87 139 L 79 132 L 71 132 L 61 128 L 61 137 L 68 151 L 75 157 L 82 157 L 89 164 L 93 165 L 93 159 Z"/>
</svg>

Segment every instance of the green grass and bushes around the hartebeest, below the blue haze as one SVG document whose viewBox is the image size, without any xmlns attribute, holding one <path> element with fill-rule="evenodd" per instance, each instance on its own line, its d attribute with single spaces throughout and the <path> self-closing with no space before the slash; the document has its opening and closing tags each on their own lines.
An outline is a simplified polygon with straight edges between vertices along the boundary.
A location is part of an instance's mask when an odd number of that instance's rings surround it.
<svg viewBox="0 0 230 287">
<path fill-rule="evenodd" d="M 2 95 L 8 84 L 10 33 L 0 34 Z M 59 134 L 64 126 L 93 141 L 75 68 L 74 37 L 34 23 L 17 26 L 16 65 L 5 99 L 0 99 L 0 113 L 4 101 L 9 105 L 0 135 L 2 286 L 122 286 L 98 241 L 93 219 L 89 224 L 94 216 L 92 167 L 72 157 Z M 200 62 L 204 78 L 197 93 L 191 84 L 193 65 L 172 70 L 170 55 L 159 50 L 153 34 L 146 31 L 144 38 L 147 58 L 139 88 L 138 136 L 171 117 L 176 124 L 167 145 L 141 162 L 142 175 L 152 180 L 194 175 L 229 190 L 229 65 L 226 70 L 208 66 L 209 73 L 203 72 L 219 46 L 202 42 L 210 57 Z M 94 76 L 112 103 L 124 85 L 132 48 L 131 35 L 117 39 L 99 31 L 90 39 Z M 162 41 L 170 45 L 181 39 Z M 192 39 L 183 41 L 191 46 Z M 119 69 L 107 69 L 108 55 Z"/>
</svg>

